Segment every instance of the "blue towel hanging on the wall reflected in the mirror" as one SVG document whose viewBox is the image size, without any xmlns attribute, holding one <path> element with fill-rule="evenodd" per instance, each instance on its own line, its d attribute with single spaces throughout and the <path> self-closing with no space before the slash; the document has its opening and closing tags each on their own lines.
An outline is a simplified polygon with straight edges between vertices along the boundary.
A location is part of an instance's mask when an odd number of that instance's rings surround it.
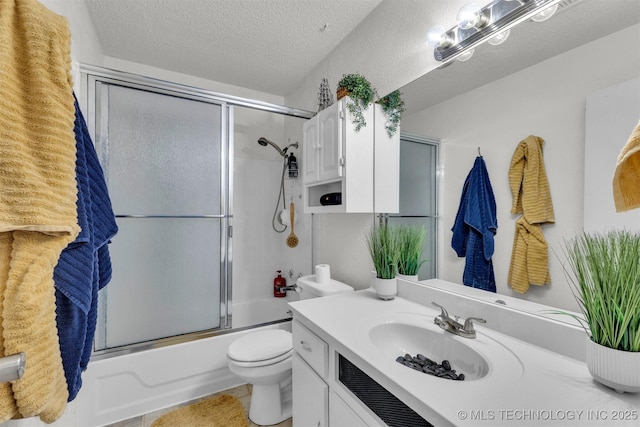
<svg viewBox="0 0 640 427">
<path fill-rule="evenodd" d="M 478 156 L 462 187 L 460 206 L 451 228 L 451 247 L 465 257 L 462 283 L 496 291 L 493 273 L 494 242 L 498 230 L 496 200 L 484 159 Z"/>
</svg>

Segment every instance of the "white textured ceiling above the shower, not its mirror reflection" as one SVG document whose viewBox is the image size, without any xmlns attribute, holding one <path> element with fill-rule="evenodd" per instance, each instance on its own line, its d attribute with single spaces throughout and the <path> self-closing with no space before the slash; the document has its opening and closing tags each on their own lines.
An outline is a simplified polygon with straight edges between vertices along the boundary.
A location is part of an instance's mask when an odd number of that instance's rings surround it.
<svg viewBox="0 0 640 427">
<path fill-rule="evenodd" d="M 86 0 L 86 4 L 107 56 L 284 96 L 380 1 Z"/>
</svg>

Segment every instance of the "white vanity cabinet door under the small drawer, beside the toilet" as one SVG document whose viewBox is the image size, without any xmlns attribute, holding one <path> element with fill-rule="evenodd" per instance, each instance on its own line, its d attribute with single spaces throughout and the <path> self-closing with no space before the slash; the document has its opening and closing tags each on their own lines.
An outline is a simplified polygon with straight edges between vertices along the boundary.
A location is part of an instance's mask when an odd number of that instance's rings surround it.
<svg viewBox="0 0 640 427">
<path fill-rule="evenodd" d="M 298 356 L 293 355 L 293 426 L 326 427 L 329 386 Z"/>
</svg>

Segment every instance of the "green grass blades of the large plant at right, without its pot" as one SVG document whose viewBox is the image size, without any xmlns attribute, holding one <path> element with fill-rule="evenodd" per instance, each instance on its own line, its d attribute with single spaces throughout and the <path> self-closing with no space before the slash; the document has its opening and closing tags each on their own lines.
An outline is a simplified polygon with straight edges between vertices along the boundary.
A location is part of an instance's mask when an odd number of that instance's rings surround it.
<svg viewBox="0 0 640 427">
<path fill-rule="evenodd" d="M 617 350 L 640 351 L 640 235 L 582 233 L 565 242 L 565 254 L 573 273 L 567 276 L 591 339 Z"/>
</svg>

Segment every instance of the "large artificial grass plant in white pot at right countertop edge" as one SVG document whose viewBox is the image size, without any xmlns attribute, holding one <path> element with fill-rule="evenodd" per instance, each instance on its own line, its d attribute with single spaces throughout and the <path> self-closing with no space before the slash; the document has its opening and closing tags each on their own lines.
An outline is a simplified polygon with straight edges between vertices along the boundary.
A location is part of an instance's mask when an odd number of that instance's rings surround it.
<svg viewBox="0 0 640 427">
<path fill-rule="evenodd" d="M 640 391 L 640 235 L 582 233 L 565 253 L 590 336 L 589 372 L 618 392 Z"/>
</svg>

